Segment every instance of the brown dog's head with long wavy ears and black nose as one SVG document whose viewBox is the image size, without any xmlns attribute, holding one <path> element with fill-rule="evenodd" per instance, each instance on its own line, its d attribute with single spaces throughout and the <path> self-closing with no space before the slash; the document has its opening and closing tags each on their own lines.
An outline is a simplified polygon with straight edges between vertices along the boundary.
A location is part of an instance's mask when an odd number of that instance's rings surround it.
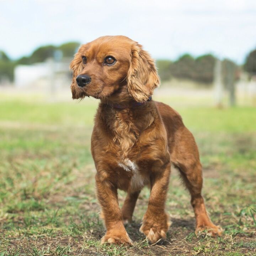
<svg viewBox="0 0 256 256">
<path fill-rule="evenodd" d="M 120 101 L 128 96 L 144 102 L 160 83 L 153 59 L 125 36 L 104 36 L 82 45 L 70 68 L 73 99 L 92 96 Z"/>
</svg>

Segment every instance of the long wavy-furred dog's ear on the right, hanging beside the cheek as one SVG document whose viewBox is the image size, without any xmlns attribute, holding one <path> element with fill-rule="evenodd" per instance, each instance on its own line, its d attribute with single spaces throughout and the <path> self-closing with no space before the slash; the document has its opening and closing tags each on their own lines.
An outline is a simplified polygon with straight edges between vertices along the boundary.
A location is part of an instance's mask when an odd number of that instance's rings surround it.
<svg viewBox="0 0 256 256">
<path fill-rule="evenodd" d="M 147 101 L 160 84 L 154 60 L 142 45 L 133 44 L 127 74 L 128 92 L 137 102 Z"/>
</svg>

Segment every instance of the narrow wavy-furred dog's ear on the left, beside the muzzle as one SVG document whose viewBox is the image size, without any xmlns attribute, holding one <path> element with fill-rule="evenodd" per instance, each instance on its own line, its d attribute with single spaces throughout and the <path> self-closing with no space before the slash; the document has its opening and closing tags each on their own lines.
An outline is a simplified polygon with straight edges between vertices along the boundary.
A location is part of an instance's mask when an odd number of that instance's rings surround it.
<svg viewBox="0 0 256 256">
<path fill-rule="evenodd" d="M 82 57 L 81 57 L 81 50 L 82 46 L 79 48 L 78 52 L 75 54 L 74 59 L 70 63 L 70 69 L 72 71 L 72 82 L 70 85 L 71 92 L 72 92 L 72 98 L 78 99 L 81 96 L 76 91 L 76 76 L 82 71 Z"/>
</svg>

